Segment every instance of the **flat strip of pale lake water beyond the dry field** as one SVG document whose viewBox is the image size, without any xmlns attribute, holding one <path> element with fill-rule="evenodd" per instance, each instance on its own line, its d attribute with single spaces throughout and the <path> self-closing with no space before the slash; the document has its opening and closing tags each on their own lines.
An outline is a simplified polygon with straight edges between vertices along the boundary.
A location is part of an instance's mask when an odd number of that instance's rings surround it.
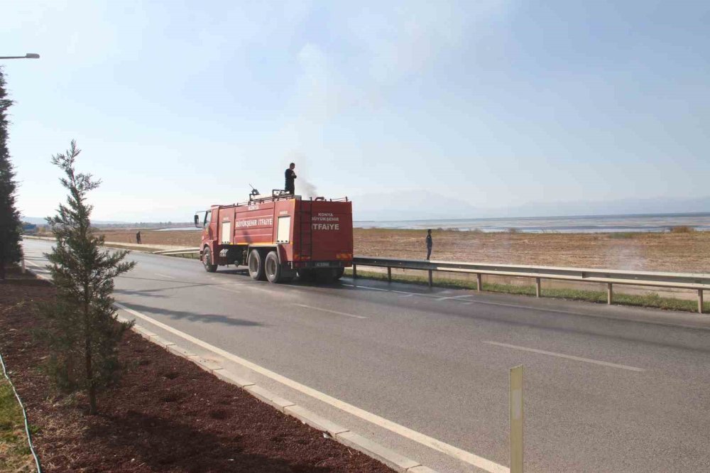
<svg viewBox="0 0 710 473">
<path fill-rule="evenodd" d="M 668 232 L 672 227 L 710 230 L 710 212 L 701 214 L 583 215 L 579 217 L 515 217 L 497 219 L 392 220 L 354 222 L 357 228 L 459 229 L 481 232 L 606 233 Z"/>
</svg>

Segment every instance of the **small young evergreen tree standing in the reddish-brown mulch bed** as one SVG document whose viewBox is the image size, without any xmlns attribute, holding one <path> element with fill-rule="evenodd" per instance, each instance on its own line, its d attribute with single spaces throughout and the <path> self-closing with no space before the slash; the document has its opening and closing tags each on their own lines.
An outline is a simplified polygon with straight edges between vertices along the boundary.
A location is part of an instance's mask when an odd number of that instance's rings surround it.
<svg viewBox="0 0 710 473">
<path fill-rule="evenodd" d="M 50 344 L 50 372 L 65 391 L 86 391 L 89 413 L 97 413 L 97 393 L 111 385 L 119 374 L 116 345 L 130 323 L 116 320 L 113 307 L 114 278 L 136 263 L 123 261 L 128 251 L 102 251 L 104 237 L 94 234 L 89 217 L 92 205 L 87 192 L 101 183 L 90 174 L 77 173 L 80 150 L 72 141 L 65 154 L 52 163 L 65 177 L 69 191 L 66 205 L 60 204 L 47 222 L 57 239 L 50 261 L 57 288 L 56 303 L 45 308 Z"/>
</svg>

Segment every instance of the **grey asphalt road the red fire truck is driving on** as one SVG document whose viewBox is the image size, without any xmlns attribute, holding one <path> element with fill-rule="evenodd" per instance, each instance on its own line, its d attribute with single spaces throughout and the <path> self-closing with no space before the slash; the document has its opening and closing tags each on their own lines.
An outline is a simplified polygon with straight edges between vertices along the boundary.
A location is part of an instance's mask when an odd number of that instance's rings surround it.
<svg viewBox="0 0 710 473">
<path fill-rule="evenodd" d="M 50 242 L 25 248 L 41 265 Z M 130 257 L 119 303 L 492 462 L 509 464 L 508 369 L 523 364 L 526 472 L 710 472 L 707 315 L 361 279 L 271 285 L 195 260 Z M 218 361 L 440 472 L 484 471 Z"/>
</svg>

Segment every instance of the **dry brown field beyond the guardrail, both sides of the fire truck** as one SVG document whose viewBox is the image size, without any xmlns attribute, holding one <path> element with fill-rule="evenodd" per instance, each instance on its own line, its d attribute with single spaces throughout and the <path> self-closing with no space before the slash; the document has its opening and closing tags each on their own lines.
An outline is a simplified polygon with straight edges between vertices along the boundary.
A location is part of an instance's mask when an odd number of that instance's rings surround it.
<svg viewBox="0 0 710 473">
<path fill-rule="evenodd" d="M 355 254 L 423 259 L 425 232 L 355 229 Z M 710 232 L 525 234 L 434 230 L 432 259 L 485 263 L 710 273 Z M 107 241 L 135 243 L 136 232 Z M 200 232 L 141 232 L 143 244 L 198 246 Z"/>
</svg>

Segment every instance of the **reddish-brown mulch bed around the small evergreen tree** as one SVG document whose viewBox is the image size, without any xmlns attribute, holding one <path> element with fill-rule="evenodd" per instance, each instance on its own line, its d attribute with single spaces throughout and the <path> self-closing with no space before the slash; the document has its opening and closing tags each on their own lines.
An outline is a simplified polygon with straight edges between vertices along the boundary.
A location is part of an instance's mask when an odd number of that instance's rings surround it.
<svg viewBox="0 0 710 473">
<path fill-rule="evenodd" d="M 0 281 L 0 352 L 26 407 L 47 472 L 391 472 L 236 386 L 129 332 L 127 371 L 87 415 L 84 396 L 53 391 L 38 365 L 33 305 L 41 281 Z"/>
</svg>

